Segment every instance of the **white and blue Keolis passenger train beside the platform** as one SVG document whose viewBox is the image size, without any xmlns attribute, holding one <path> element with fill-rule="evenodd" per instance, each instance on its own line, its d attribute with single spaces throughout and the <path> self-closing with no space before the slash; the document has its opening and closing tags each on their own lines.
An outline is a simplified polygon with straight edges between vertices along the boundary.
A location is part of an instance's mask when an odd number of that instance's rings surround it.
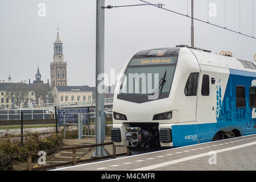
<svg viewBox="0 0 256 182">
<path fill-rule="evenodd" d="M 176 46 L 139 51 L 122 73 L 113 101 L 117 146 L 180 147 L 256 133 L 251 61 Z"/>
</svg>

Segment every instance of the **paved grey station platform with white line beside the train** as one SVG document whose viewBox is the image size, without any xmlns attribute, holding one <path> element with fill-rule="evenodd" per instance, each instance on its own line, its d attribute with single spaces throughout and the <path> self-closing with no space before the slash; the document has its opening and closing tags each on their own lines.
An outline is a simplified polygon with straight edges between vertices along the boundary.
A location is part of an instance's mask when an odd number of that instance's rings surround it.
<svg viewBox="0 0 256 182">
<path fill-rule="evenodd" d="M 55 169 L 55 171 L 155 170 L 256 171 L 256 134 Z"/>
</svg>

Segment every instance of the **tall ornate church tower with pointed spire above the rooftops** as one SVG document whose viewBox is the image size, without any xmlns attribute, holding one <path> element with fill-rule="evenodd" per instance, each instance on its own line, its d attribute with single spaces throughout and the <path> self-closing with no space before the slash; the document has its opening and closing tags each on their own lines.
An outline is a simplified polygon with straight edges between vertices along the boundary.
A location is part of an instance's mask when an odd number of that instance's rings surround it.
<svg viewBox="0 0 256 182">
<path fill-rule="evenodd" d="M 60 40 L 59 28 L 54 46 L 53 62 L 51 63 L 51 87 L 67 86 L 67 62 L 63 58 L 63 43 Z"/>
</svg>

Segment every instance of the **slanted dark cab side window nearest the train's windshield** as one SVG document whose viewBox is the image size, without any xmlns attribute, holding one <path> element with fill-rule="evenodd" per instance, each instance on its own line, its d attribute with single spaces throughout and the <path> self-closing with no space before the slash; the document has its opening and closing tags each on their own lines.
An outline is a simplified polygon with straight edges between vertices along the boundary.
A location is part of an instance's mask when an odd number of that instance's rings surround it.
<svg viewBox="0 0 256 182">
<path fill-rule="evenodd" d="M 190 73 L 185 85 L 185 96 L 196 96 L 199 73 Z"/>
</svg>

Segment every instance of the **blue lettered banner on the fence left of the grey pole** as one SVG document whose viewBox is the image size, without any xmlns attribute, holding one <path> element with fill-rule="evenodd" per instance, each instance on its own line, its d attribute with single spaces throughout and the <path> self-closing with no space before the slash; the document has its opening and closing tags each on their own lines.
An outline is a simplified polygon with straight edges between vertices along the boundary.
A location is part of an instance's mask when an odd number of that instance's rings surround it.
<svg viewBox="0 0 256 182">
<path fill-rule="evenodd" d="M 75 113 L 87 113 L 87 109 L 57 109 L 58 112 L 58 125 L 64 125 L 64 115 L 65 123 L 78 123 L 78 114 Z M 82 114 L 82 123 L 88 123 L 88 114 Z"/>
</svg>

